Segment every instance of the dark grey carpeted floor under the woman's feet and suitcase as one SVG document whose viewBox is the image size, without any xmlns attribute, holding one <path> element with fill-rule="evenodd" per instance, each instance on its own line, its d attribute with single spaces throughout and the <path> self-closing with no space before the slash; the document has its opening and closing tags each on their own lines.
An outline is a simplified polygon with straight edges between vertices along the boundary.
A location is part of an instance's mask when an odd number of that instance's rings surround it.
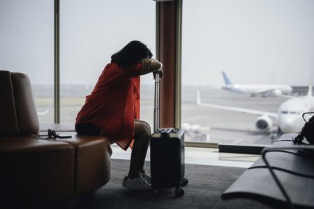
<svg viewBox="0 0 314 209">
<path fill-rule="evenodd" d="M 153 192 L 135 192 L 121 186 L 129 167 L 128 160 L 112 159 L 110 182 L 94 194 L 68 201 L 68 203 L 39 206 L 42 208 L 269 208 L 268 206 L 248 199 L 223 201 L 220 194 L 236 180 L 245 169 L 234 167 L 214 167 L 186 164 L 188 185 L 183 187 L 184 196 L 174 196 L 173 189 L 163 189 L 158 195 Z M 145 169 L 149 173 L 149 162 Z"/>
</svg>

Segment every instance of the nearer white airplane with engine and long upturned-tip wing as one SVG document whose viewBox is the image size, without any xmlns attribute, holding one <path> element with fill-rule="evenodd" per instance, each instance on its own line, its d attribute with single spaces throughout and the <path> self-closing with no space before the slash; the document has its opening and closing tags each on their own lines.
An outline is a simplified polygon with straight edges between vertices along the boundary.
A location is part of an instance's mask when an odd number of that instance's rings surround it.
<svg viewBox="0 0 314 209">
<path fill-rule="evenodd" d="M 197 91 L 197 104 L 202 107 L 212 107 L 230 111 L 239 111 L 247 114 L 255 114 L 257 115 L 257 118 L 255 120 L 255 127 L 261 132 L 269 131 L 269 128 L 273 124 L 272 118 L 274 118 L 275 120 L 277 120 L 278 123 L 278 132 L 299 133 L 305 123 L 304 119 L 302 118 L 302 114 L 304 114 L 305 112 L 314 111 L 314 97 L 312 93 L 312 86 L 313 79 L 311 79 L 310 85 L 308 86 L 307 95 L 285 100 L 285 102 L 283 102 L 278 107 L 277 113 L 238 107 L 228 107 L 218 104 L 202 103 L 200 99 L 200 91 Z M 307 116 L 309 117 L 311 115 Z"/>
</svg>

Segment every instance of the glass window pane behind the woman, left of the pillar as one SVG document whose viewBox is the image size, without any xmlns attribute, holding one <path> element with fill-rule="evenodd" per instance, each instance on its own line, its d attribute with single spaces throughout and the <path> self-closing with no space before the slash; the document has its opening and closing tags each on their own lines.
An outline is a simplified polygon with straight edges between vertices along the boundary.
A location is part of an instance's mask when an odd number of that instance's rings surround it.
<svg viewBox="0 0 314 209">
<path fill-rule="evenodd" d="M 156 51 L 155 2 L 61 1 L 61 123 L 75 123 L 110 56 L 131 40 Z M 153 123 L 154 80 L 141 79 L 141 119 Z"/>
</svg>

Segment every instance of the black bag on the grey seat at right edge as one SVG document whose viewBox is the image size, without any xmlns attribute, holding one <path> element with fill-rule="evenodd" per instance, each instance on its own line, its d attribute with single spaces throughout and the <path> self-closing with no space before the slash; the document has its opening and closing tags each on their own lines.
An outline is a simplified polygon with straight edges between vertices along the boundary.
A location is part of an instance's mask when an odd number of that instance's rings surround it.
<svg viewBox="0 0 314 209">
<path fill-rule="evenodd" d="M 302 114 L 302 118 L 306 122 L 304 116 L 306 114 L 314 114 L 314 112 L 306 112 Z M 314 144 L 314 116 L 312 116 L 302 127 L 300 134 L 293 140 L 294 144 L 303 144 L 304 137 L 309 144 Z"/>
</svg>

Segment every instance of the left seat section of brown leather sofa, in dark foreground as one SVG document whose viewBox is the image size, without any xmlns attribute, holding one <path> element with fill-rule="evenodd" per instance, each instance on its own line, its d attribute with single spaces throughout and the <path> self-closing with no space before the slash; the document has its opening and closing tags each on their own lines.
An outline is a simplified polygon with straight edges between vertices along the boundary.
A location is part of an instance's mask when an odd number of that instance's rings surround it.
<svg viewBox="0 0 314 209">
<path fill-rule="evenodd" d="M 74 195 L 73 146 L 29 137 L 0 137 L 0 199 L 33 205 Z"/>
</svg>

